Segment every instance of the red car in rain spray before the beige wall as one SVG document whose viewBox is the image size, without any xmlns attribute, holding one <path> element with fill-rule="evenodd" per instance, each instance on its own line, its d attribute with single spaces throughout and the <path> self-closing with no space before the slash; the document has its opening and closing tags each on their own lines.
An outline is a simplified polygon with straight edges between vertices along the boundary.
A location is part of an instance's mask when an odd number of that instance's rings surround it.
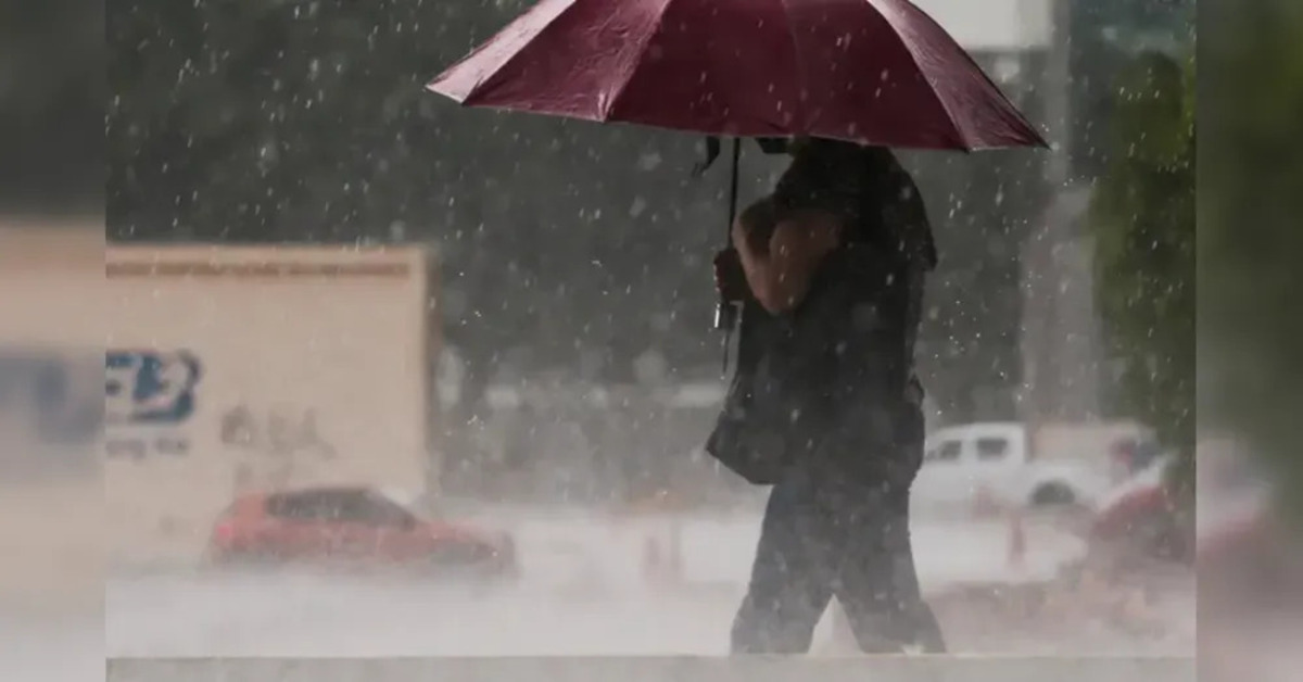
<svg viewBox="0 0 1303 682">
<path fill-rule="evenodd" d="M 422 519 L 369 488 L 240 497 L 214 524 L 208 556 L 218 565 L 417 566 L 480 576 L 517 570 L 509 536 Z"/>
</svg>

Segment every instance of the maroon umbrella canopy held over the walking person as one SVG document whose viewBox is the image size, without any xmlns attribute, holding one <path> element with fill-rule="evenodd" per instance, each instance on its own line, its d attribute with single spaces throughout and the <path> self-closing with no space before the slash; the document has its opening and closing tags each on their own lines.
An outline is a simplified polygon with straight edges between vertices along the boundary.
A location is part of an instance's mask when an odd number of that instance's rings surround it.
<svg viewBox="0 0 1303 682">
<path fill-rule="evenodd" d="M 1045 146 L 908 0 L 542 0 L 429 89 L 715 136 Z"/>
</svg>

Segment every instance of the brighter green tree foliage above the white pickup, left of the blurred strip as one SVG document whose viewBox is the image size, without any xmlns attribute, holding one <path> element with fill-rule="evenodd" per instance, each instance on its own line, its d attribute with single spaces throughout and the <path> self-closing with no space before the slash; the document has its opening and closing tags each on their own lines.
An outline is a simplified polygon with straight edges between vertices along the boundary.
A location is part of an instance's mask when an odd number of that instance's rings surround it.
<svg viewBox="0 0 1303 682">
<path fill-rule="evenodd" d="M 1195 446 L 1195 87 L 1188 68 L 1136 57 L 1118 83 L 1113 149 L 1093 206 L 1097 300 L 1123 365 L 1122 413 Z"/>
</svg>

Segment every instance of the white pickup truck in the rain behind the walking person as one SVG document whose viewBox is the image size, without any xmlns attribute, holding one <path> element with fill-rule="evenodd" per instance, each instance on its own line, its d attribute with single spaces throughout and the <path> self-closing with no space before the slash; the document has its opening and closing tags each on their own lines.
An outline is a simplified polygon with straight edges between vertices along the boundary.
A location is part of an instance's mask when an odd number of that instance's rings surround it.
<svg viewBox="0 0 1303 682">
<path fill-rule="evenodd" d="M 949 426 L 928 437 L 913 507 L 1093 506 L 1161 452 L 1153 433 L 1132 423 Z"/>
</svg>

